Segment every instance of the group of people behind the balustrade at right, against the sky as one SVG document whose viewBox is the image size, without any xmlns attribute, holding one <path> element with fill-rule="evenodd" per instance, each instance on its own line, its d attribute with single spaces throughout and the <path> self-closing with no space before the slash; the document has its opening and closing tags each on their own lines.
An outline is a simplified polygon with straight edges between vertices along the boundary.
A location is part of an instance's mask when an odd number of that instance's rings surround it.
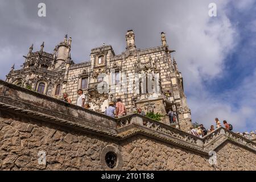
<svg viewBox="0 0 256 182">
<path fill-rule="evenodd" d="M 216 129 L 218 127 L 221 127 L 221 122 L 218 120 L 218 118 L 215 118 L 215 122 L 216 122 Z M 227 130 L 233 130 L 233 126 L 228 123 L 226 120 L 223 121 L 223 125 L 225 127 L 225 129 Z M 208 133 L 212 133 L 214 131 L 214 126 L 211 125 L 210 126 L 210 129 L 205 129 L 204 125 L 203 124 L 200 124 L 198 127 L 195 127 L 195 126 L 191 126 L 190 127 L 190 133 L 192 135 L 195 135 L 196 137 L 204 137 L 205 135 L 207 135 Z"/>
</svg>

